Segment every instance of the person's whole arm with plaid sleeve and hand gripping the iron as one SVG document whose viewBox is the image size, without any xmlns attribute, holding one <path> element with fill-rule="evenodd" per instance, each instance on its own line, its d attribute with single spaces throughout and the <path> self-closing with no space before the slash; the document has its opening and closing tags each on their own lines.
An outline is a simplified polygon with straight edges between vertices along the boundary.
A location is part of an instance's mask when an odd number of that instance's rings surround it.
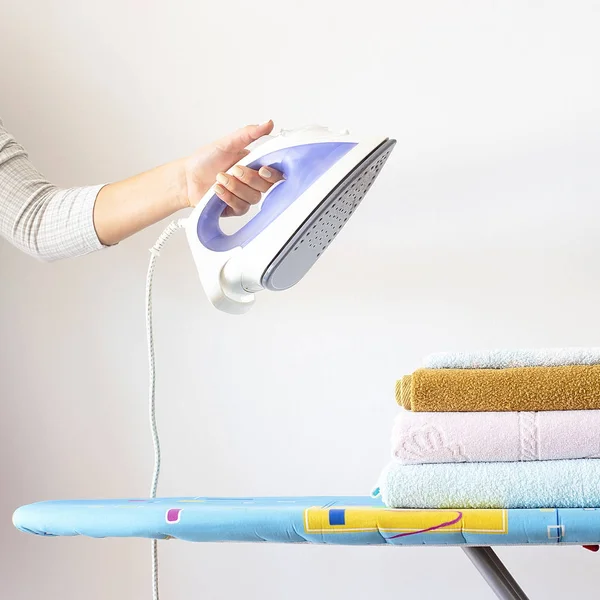
<svg viewBox="0 0 600 600">
<path fill-rule="evenodd" d="M 59 189 L 40 175 L 0 122 L 0 235 L 42 260 L 93 252 L 194 206 L 213 185 L 227 215 L 244 214 L 261 192 L 281 178 L 243 168 L 223 171 L 246 156 L 253 141 L 269 134 L 271 121 L 251 125 L 176 160 L 121 182 Z"/>
</svg>

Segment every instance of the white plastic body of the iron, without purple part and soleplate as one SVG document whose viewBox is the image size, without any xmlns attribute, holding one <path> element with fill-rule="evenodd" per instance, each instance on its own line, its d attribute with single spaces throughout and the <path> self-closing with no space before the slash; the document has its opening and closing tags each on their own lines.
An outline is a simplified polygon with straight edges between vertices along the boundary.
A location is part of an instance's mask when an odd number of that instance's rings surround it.
<svg viewBox="0 0 600 600">
<path fill-rule="evenodd" d="M 213 306 L 230 314 L 247 312 L 254 303 L 255 294 L 265 289 L 262 283 L 265 271 L 299 226 L 348 173 L 386 140 L 382 137 L 359 140 L 346 132 L 335 133 L 323 127 L 284 131 L 276 137 L 266 136 L 259 140 L 239 165 L 249 165 L 267 154 L 306 144 L 342 142 L 355 145 L 243 247 L 215 251 L 200 241 L 198 221 L 209 201 L 215 197 L 214 187 L 206 193 L 187 219 L 186 235 L 202 286 Z M 276 187 L 269 190 L 265 198 Z"/>
</svg>

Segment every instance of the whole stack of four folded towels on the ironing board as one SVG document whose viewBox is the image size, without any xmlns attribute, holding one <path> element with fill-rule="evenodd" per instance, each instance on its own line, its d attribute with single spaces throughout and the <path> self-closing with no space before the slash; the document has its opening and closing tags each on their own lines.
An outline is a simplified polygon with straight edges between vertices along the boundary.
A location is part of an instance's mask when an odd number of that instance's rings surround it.
<svg viewBox="0 0 600 600">
<path fill-rule="evenodd" d="M 396 399 L 387 506 L 600 507 L 600 348 L 435 354 Z"/>
</svg>

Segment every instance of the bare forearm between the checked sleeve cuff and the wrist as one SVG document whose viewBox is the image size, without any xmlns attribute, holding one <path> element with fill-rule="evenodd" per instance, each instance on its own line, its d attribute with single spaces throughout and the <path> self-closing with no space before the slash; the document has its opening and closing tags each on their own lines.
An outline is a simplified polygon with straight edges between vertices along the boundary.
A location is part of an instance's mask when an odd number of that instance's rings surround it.
<svg viewBox="0 0 600 600">
<path fill-rule="evenodd" d="M 183 161 L 104 186 L 94 206 L 100 241 L 111 246 L 188 206 Z"/>
</svg>

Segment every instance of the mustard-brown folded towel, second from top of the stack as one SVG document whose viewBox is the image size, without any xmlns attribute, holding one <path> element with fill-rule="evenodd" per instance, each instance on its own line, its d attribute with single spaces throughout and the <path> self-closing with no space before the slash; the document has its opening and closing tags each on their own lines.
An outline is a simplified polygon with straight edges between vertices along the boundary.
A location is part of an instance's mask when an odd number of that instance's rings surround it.
<svg viewBox="0 0 600 600">
<path fill-rule="evenodd" d="M 600 409 L 600 365 L 515 369 L 418 369 L 396 382 L 416 412 Z"/>
</svg>

